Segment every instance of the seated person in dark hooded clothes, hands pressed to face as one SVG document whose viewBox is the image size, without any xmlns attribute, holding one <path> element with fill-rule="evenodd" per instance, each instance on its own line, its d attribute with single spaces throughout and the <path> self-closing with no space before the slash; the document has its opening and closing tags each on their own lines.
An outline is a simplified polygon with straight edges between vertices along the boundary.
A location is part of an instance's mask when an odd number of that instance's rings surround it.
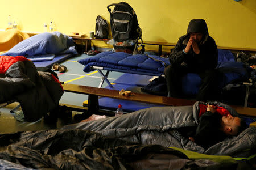
<svg viewBox="0 0 256 170">
<path fill-rule="evenodd" d="M 189 22 L 187 34 L 179 38 L 168 58 L 170 65 L 164 69 L 168 97 L 184 97 L 181 77 L 196 73 L 202 79 L 196 100 L 218 99 L 218 49 L 204 19 Z"/>
</svg>

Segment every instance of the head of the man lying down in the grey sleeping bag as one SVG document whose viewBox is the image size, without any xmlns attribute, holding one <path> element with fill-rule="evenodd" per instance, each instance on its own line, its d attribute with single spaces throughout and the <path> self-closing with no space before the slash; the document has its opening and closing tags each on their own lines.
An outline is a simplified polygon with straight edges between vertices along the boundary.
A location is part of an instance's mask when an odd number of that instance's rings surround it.
<svg viewBox="0 0 256 170">
<path fill-rule="evenodd" d="M 246 128 L 246 122 L 240 117 L 234 117 L 228 114 L 228 116 L 222 116 L 221 118 L 221 131 L 226 135 L 236 136 Z"/>
</svg>

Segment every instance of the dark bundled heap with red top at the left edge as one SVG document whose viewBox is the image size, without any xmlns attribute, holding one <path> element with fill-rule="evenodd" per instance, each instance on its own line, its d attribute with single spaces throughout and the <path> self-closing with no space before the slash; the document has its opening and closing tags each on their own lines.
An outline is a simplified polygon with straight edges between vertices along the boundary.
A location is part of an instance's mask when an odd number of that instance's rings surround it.
<svg viewBox="0 0 256 170">
<path fill-rule="evenodd" d="M 34 122 L 59 106 L 63 87 L 52 74 L 37 71 L 22 56 L 0 56 L 0 103 L 16 100 L 24 120 Z"/>
</svg>

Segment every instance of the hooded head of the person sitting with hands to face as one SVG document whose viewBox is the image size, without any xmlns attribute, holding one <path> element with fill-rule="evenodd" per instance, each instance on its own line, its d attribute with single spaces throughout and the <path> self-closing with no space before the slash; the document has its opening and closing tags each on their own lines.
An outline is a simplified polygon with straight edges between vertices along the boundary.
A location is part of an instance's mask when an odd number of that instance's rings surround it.
<svg viewBox="0 0 256 170">
<path fill-rule="evenodd" d="M 204 19 L 192 19 L 188 24 L 187 35 L 197 43 L 208 37 L 208 28 Z"/>
</svg>

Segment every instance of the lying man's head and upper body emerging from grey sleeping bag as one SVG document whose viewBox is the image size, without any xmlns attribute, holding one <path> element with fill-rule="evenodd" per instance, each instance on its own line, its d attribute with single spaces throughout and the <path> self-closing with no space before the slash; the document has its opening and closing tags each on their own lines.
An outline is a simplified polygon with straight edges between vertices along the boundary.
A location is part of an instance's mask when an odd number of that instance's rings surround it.
<svg viewBox="0 0 256 170">
<path fill-rule="evenodd" d="M 215 105 L 201 105 L 199 116 L 196 133 L 189 140 L 205 149 L 224 141 L 226 137 L 236 136 L 247 128 L 242 118 L 234 117 L 225 108 Z"/>
</svg>

